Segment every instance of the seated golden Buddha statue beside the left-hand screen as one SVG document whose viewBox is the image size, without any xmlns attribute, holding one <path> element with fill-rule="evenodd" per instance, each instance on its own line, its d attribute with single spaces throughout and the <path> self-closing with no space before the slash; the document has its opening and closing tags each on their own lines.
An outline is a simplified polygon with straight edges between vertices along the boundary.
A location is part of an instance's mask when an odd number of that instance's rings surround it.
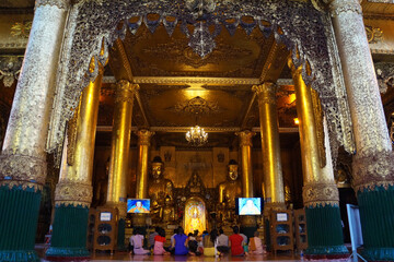
<svg viewBox="0 0 394 262">
<path fill-rule="evenodd" d="M 152 179 L 149 183 L 148 194 L 151 200 L 151 218 L 154 224 L 163 222 L 165 202 L 174 202 L 174 184 L 170 179 L 163 178 L 164 163 L 160 156 L 155 156 L 152 162 Z"/>
</svg>

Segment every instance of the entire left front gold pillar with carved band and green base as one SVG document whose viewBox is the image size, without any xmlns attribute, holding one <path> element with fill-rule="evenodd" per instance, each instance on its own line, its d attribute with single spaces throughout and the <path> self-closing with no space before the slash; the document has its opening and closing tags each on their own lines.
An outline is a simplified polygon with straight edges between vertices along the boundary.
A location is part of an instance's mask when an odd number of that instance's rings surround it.
<svg viewBox="0 0 394 262">
<path fill-rule="evenodd" d="M 94 67 L 94 59 L 91 66 Z M 100 64 L 100 63 L 99 63 Z M 55 219 L 48 259 L 88 259 L 86 233 L 92 201 L 95 131 L 103 66 L 94 82 L 84 88 L 79 107 L 68 122 L 59 182 L 55 191 Z"/>
</svg>

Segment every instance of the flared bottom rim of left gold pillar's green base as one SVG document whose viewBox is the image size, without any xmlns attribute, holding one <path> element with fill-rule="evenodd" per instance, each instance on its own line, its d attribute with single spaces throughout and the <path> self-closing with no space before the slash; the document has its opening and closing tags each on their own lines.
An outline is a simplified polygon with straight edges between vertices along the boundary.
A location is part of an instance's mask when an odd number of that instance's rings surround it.
<svg viewBox="0 0 394 262">
<path fill-rule="evenodd" d="M 45 259 L 49 261 L 85 261 L 90 260 L 86 248 L 53 248 L 50 247 Z"/>
</svg>

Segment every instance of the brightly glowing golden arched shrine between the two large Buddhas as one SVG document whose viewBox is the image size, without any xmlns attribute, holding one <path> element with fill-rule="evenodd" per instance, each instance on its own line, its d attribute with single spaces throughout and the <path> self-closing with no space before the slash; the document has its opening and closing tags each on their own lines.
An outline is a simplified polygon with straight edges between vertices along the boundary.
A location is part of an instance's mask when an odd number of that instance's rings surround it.
<svg viewBox="0 0 394 262">
<path fill-rule="evenodd" d="M 207 229 L 207 209 L 201 198 L 192 196 L 186 201 L 183 225 L 186 234 Z"/>
</svg>

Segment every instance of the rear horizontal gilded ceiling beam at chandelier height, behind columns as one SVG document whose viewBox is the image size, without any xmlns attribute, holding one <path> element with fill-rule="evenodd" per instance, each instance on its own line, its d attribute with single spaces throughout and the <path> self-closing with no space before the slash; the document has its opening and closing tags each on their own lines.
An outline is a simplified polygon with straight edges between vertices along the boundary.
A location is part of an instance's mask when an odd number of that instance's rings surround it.
<svg viewBox="0 0 394 262">
<path fill-rule="evenodd" d="M 112 132 L 112 126 L 97 126 L 97 132 Z M 137 131 L 137 127 L 131 128 L 132 131 Z M 166 133 L 186 133 L 190 130 L 190 127 L 150 127 L 150 131 L 154 132 L 166 132 Z M 228 128 L 204 128 L 207 133 L 232 133 L 242 131 L 239 127 L 228 127 Z M 259 127 L 252 128 L 253 132 L 258 133 L 260 131 Z M 279 133 L 298 133 L 298 128 L 279 128 Z"/>
</svg>

